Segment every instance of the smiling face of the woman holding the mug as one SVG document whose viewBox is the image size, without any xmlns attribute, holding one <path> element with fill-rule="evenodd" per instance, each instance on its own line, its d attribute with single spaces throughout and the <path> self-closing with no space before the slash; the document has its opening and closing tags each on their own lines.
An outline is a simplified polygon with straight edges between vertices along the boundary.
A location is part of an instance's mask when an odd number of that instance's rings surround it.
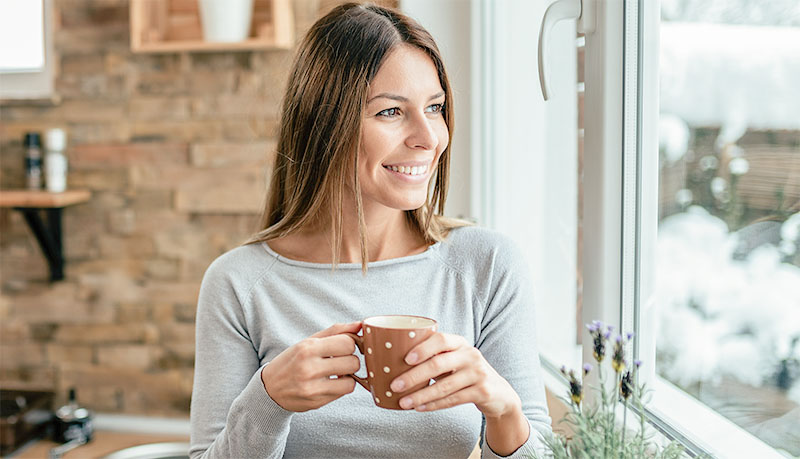
<svg viewBox="0 0 800 459">
<path fill-rule="evenodd" d="M 444 103 L 439 74 L 422 50 L 401 45 L 389 53 L 370 83 L 361 128 L 358 178 L 365 207 L 425 204 L 448 142 Z"/>
</svg>

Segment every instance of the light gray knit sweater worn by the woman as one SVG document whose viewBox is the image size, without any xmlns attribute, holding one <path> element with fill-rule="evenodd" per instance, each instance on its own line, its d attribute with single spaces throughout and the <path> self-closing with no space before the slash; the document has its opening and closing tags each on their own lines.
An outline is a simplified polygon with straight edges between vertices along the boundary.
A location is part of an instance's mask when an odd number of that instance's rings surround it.
<svg viewBox="0 0 800 459">
<path fill-rule="evenodd" d="M 219 257 L 203 278 L 191 407 L 192 458 L 466 458 L 484 420 L 474 405 L 434 412 L 378 408 L 361 387 L 322 408 L 281 408 L 261 368 L 341 322 L 380 314 L 434 318 L 463 336 L 517 391 L 531 424 L 526 457 L 550 431 L 534 336 L 531 281 L 520 250 L 477 227 L 453 230 L 425 252 L 361 264 L 308 263 L 265 244 Z M 363 367 L 359 374 L 365 373 Z M 482 444 L 483 457 L 497 457 Z"/>
</svg>

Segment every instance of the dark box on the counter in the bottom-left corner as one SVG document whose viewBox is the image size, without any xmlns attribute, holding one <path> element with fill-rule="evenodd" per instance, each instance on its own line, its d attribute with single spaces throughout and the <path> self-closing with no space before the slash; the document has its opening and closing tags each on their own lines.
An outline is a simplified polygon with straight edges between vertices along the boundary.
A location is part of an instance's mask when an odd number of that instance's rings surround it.
<svg viewBox="0 0 800 459">
<path fill-rule="evenodd" d="M 0 390 L 0 455 L 50 435 L 53 392 Z"/>
</svg>

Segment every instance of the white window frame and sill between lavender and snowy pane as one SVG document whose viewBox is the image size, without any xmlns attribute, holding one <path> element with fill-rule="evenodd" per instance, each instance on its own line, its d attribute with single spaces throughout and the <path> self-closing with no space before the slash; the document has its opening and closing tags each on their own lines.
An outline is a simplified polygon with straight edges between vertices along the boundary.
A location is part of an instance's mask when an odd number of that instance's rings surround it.
<svg viewBox="0 0 800 459">
<path fill-rule="evenodd" d="M 598 1 L 596 11 L 586 37 L 584 317 L 637 332 L 630 351 L 654 389 L 648 420 L 690 454 L 782 458 L 655 374 L 660 5 Z"/>
</svg>

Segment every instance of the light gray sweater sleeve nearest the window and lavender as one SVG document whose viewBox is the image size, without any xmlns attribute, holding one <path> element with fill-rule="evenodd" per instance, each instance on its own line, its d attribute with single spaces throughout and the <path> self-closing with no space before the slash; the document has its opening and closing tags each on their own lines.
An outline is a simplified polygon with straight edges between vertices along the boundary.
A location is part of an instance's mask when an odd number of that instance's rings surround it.
<svg viewBox="0 0 800 459">
<path fill-rule="evenodd" d="M 531 278 L 525 260 L 513 242 L 499 237 L 486 279 L 490 285 L 482 298 L 485 312 L 476 347 L 522 400 L 530 424 L 528 440 L 509 456 L 499 456 L 486 443 L 483 420 L 483 458 L 539 457 L 545 451 L 542 436 L 552 432 L 547 411 L 539 351 Z M 538 456 L 537 456 L 538 454 Z"/>
</svg>

